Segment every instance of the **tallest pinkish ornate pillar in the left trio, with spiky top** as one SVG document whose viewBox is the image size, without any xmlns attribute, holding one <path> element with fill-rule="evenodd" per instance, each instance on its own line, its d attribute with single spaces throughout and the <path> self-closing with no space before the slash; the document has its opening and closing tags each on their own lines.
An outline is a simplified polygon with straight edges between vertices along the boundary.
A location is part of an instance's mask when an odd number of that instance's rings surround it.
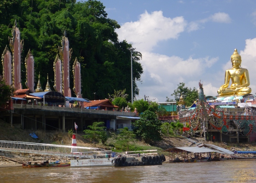
<svg viewBox="0 0 256 183">
<path fill-rule="evenodd" d="M 9 42 L 12 50 L 12 87 L 15 90 L 21 90 L 21 57 L 23 49 L 23 40 L 20 41 L 20 30 L 17 27 L 17 21 L 15 20 L 15 25 L 12 28 L 12 38 L 9 37 Z"/>
</svg>

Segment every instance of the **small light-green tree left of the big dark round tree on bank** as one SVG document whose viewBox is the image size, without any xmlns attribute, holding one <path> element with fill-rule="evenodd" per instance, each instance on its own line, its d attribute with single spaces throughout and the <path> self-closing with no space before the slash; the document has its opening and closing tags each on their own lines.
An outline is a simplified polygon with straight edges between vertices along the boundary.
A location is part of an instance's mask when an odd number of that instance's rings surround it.
<svg viewBox="0 0 256 183">
<path fill-rule="evenodd" d="M 120 144 L 123 151 L 129 151 L 129 145 L 131 142 L 136 140 L 136 135 L 133 131 L 128 131 L 127 127 L 118 130 L 120 132 L 117 135 L 117 139 L 119 140 L 117 143 Z"/>
</svg>

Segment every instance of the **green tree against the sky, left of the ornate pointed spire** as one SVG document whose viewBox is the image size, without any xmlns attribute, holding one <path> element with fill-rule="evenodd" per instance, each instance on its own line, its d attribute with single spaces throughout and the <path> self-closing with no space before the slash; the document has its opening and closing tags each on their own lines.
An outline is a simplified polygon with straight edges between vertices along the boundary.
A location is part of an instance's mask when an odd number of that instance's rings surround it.
<svg viewBox="0 0 256 183">
<path fill-rule="evenodd" d="M 186 87 L 185 83 L 180 83 L 171 95 L 174 96 L 177 102 L 180 100 L 180 95 L 182 95 L 185 105 L 191 106 L 198 99 L 198 90 L 195 87 L 193 89 Z"/>
</svg>

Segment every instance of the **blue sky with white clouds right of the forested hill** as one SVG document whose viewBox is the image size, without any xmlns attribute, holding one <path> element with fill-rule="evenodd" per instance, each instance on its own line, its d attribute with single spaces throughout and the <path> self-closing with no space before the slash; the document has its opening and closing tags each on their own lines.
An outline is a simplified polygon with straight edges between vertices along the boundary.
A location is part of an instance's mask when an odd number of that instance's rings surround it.
<svg viewBox="0 0 256 183">
<path fill-rule="evenodd" d="M 164 102 L 179 83 L 217 96 L 237 49 L 256 92 L 255 0 L 100 0 L 116 20 L 119 41 L 141 52 L 136 99 Z M 129 94 L 129 91 L 127 91 Z"/>
</svg>

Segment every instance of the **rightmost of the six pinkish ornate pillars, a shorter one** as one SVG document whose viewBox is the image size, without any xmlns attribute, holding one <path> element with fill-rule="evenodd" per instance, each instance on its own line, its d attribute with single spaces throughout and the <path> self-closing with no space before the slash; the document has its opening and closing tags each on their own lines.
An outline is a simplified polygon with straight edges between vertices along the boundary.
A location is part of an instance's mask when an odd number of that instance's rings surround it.
<svg viewBox="0 0 256 183">
<path fill-rule="evenodd" d="M 81 95 L 81 65 L 77 61 L 77 58 L 75 59 L 74 65 L 73 65 L 73 75 L 74 75 L 74 92 L 76 93 L 77 98 L 82 98 Z"/>
</svg>

